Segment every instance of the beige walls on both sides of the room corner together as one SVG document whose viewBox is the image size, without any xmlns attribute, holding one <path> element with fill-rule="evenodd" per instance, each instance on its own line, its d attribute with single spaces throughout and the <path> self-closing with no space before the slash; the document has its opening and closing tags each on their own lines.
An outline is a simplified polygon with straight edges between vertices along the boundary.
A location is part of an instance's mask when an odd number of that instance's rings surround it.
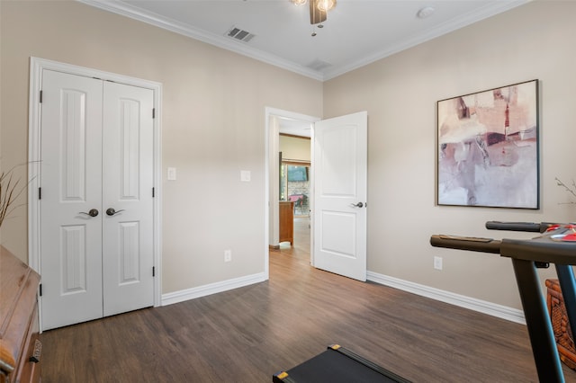
<svg viewBox="0 0 576 383">
<path fill-rule="evenodd" d="M 31 56 L 163 84 L 163 169 L 178 170 L 177 181 L 162 185 L 164 293 L 264 271 L 266 106 L 326 118 L 368 111 L 371 272 L 519 308 L 509 260 L 435 249 L 429 236 L 501 237 L 483 229 L 491 219 L 575 219 L 554 183 L 576 178 L 568 163 L 576 142 L 574 2 L 532 2 L 324 85 L 76 2 L 4 0 L 0 12 L 3 169 L 27 160 Z M 534 78 L 542 209 L 435 206 L 437 100 Z M 251 183 L 239 182 L 240 170 L 252 172 Z M 25 217 L 18 210 L 1 237 L 23 258 Z M 233 262 L 223 263 L 228 248 Z M 442 272 L 434 255 L 444 257 Z"/>
</svg>

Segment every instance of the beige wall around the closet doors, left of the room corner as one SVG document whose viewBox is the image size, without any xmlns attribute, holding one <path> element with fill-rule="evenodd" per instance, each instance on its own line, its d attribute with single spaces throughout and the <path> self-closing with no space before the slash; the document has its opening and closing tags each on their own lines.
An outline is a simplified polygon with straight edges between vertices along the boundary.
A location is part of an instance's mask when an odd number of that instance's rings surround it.
<svg viewBox="0 0 576 383">
<path fill-rule="evenodd" d="M 162 165 L 177 168 L 162 184 L 162 292 L 265 272 L 265 108 L 321 115 L 320 82 L 74 1 L 3 0 L 0 12 L 2 169 L 28 159 L 31 56 L 157 81 Z M 1 237 L 23 260 L 26 214 Z"/>
</svg>

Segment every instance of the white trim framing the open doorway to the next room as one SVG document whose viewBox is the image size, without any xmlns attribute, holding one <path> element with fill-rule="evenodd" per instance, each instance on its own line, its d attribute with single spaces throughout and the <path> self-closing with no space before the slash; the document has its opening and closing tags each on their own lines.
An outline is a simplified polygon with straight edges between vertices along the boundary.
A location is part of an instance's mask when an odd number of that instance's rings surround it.
<svg viewBox="0 0 576 383">
<path fill-rule="evenodd" d="M 278 207 L 277 203 L 275 203 L 280 198 L 280 191 L 279 191 L 279 174 L 278 174 L 278 166 L 279 158 L 278 152 L 280 151 L 280 143 L 279 143 L 279 129 L 278 124 L 272 122 L 273 117 L 280 117 L 285 119 L 291 120 L 302 120 L 303 122 L 310 122 L 311 123 L 311 144 L 314 142 L 314 122 L 321 120 L 320 117 L 309 116 L 302 113 L 297 113 L 294 111 L 284 111 L 282 109 L 276 109 L 272 107 L 266 106 L 265 108 L 265 140 L 266 140 L 266 160 L 265 160 L 265 274 L 266 280 L 270 279 L 270 270 L 269 270 L 269 261 L 270 261 L 270 252 L 269 252 L 269 245 L 270 245 L 270 219 L 271 219 L 271 210 L 272 210 L 272 218 L 278 221 Z M 313 150 L 313 145 L 311 145 L 311 150 Z M 311 153 L 313 158 L 313 152 Z M 274 166 L 274 167 L 272 167 Z M 274 179 L 273 179 L 274 178 Z M 272 183 L 274 182 L 274 184 Z M 314 179 L 311 178 L 311 191 L 314 190 Z M 312 192 L 311 192 L 312 194 Z M 274 203 L 273 203 L 274 202 Z M 313 209 L 314 201 L 311 198 L 310 200 L 310 207 L 311 207 L 311 214 L 314 213 Z M 312 219 L 311 219 L 312 222 Z M 313 254 L 313 233 L 314 227 L 311 225 L 311 264 L 313 263 L 314 254 Z"/>
</svg>

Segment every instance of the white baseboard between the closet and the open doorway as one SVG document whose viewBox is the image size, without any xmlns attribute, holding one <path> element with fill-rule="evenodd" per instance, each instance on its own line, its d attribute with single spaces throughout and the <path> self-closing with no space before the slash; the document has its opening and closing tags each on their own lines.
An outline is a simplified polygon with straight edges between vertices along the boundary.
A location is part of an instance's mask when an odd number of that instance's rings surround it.
<svg viewBox="0 0 576 383">
<path fill-rule="evenodd" d="M 263 281 L 266 281 L 266 274 L 261 272 L 258 274 L 235 278 L 233 280 L 211 283 L 192 289 L 168 292 L 166 294 L 162 294 L 162 306 L 184 302 L 184 300 L 188 299 L 205 297 L 207 295 L 216 294 L 217 292 L 228 291 L 229 289 L 238 289 Z"/>
</svg>

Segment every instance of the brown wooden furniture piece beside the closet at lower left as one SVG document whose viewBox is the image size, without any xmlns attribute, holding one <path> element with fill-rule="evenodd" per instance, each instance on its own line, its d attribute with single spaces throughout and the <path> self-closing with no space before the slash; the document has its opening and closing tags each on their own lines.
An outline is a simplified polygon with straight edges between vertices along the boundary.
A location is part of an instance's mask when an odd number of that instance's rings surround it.
<svg viewBox="0 0 576 383">
<path fill-rule="evenodd" d="M 40 275 L 0 246 L 0 383 L 39 382 Z"/>
</svg>

